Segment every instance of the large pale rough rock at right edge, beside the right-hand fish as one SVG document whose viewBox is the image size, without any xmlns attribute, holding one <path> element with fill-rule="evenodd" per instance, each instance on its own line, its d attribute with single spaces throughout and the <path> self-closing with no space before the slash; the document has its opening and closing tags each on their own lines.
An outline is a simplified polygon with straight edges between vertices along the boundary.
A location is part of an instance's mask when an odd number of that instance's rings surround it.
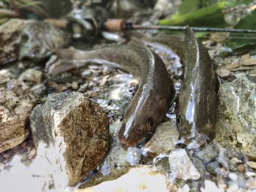
<svg viewBox="0 0 256 192">
<path fill-rule="evenodd" d="M 216 140 L 256 160 L 256 77 L 222 84 L 218 98 Z"/>
</svg>

